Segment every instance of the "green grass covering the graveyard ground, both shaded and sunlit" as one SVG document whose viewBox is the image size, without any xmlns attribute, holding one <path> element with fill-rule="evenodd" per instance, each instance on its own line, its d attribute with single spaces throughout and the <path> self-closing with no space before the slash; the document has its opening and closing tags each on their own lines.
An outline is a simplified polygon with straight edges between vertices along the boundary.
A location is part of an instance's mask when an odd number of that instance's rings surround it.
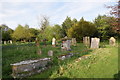
<svg viewBox="0 0 120 80">
<path fill-rule="evenodd" d="M 82 43 L 78 43 L 77 46 L 71 46 L 72 51 L 61 51 L 60 45 L 54 48 L 50 42 L 47 43 L 47 46 L 40 44 L 42 55 L 36 53 L 37 47 L 34 43 L 3 45 L 3 78 L 11 78 L 10 64 L 48 57 L 49 50 L 54 51 L 54 56 L 51 57 L 53 59 L 52 67 L 28 78 L 113 78 L 118 73 L 118 47 L 111 47 L 107 45 L 108 42 L 102 42 L 100 48 L 95 50 L 89 50 Z M 64 61 L 56 58 L 70 52 L 80 54 Z M 79 57 L 86 54 L 91 56 L 76 62 Z"/>
</svg>

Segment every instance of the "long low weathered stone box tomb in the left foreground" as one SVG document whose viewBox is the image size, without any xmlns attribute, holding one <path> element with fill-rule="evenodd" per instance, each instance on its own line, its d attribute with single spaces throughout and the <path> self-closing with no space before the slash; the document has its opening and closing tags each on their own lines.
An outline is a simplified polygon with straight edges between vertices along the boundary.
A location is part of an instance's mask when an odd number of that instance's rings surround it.
<svg viewBox="0 0 120 80">
<path fill-rule="evenodd" d="M 50 58 L 37 60 L 27 60 L 12 65 L 12 76 L 14 78 L 22 78 L 36 73 L 40 73 L 51 66 Z"/>
</svg>

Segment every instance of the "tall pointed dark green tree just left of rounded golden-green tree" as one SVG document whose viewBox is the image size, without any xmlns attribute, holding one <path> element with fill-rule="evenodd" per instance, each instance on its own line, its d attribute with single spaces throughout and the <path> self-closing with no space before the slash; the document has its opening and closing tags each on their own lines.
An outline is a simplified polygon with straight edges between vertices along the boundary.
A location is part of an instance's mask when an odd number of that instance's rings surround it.
<svg viewBox="0 0 120 80">
<path fill-rule="evenodd" d="M 67 36 L 67 31 L 69 28 L 72 27 L 72 25 L 73 23 L 71 18 L 67 16 L 64 22 L 62 23 L 62 30 L 63 30 L 64 36 Z"/>
</svg>

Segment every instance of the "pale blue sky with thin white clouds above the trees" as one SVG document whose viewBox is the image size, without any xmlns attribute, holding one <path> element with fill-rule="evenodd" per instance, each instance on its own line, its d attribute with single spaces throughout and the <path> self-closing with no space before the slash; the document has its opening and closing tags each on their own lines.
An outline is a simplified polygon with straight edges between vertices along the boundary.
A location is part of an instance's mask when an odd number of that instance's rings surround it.
<svg viewBox="0 0 120 80">
<path fill-rule="evenodd" d="M 98 15 L 109 14 L 105 5 L 118 0 L 0 0 L 0 25 L 15 30 L 18 24 L 38 29 L 41 16 L 49 17 L 50 25 L 61 25 L 67 16 L 93 21 Z"/>
</svg>

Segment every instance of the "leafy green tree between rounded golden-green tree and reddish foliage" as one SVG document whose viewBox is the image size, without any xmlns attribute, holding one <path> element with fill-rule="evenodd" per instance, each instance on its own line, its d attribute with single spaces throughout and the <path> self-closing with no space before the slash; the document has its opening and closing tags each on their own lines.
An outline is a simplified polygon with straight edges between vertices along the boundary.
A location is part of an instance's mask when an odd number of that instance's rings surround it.
<svg viewBox="0 0 120 80">
<path fill-rule="evenodd" d="M 114 17 L 109 17 L 106 15 L 98 15 L 98 17 L 95 18 L 94 24 L 97 27 L 98 36 L 101 39 L 107 39 L 109 36 L 115 35 L 115 33 L 112 30 L 113 25 L 111 24 L 113 21 L 115 21 Z"/>
</svg>

